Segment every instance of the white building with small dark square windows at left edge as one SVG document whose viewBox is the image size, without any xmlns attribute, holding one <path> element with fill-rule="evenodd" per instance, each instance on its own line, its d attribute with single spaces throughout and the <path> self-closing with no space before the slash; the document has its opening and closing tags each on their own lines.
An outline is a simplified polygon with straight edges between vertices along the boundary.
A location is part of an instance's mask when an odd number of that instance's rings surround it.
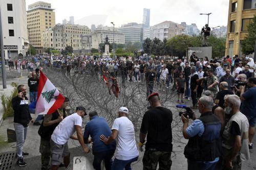
<svg viewBox="0 0 256 170">
<path fill-rule="evenodd" d="M 28 31 L 25 0 L 1 0 L 2 30 L 5 58 L 17 59 L 28 50 Z"/>
</svg>

